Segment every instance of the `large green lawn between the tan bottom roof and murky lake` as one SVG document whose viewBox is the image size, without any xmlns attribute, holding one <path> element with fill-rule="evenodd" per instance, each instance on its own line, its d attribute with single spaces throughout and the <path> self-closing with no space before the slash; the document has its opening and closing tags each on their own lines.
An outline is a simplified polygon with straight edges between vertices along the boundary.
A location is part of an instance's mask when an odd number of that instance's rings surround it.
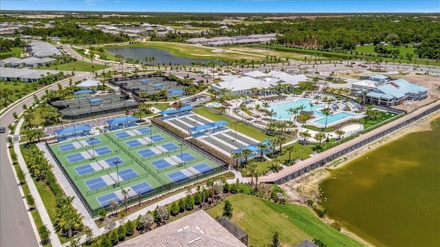
<svg viewBox="0 0 440 247">
<path fill-rule="evenodd" d="M 304 239 L 321 239 L 327 246 L 362 246 L 322 222 L 311 209 L 295 204 L 275 204 L 254 196 L 236 194 L 232 204 L 232 222 L 248 233 L 249 246 L 270 246 L 278 232 L 281 246 L 296 246 Z M 209 209 L 212 217 L 220 217 L 224 202 Z"/>
</svg>

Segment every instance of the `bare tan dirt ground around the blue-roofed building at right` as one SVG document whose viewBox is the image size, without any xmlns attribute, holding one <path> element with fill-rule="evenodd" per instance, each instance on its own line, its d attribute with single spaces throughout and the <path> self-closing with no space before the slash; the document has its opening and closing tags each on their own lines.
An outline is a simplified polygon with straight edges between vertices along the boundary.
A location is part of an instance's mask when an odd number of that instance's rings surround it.
<svg viewBox="0 0 440 247">
<path fill-rule="evenodd" d="M 440 99 L 440 91 L 436 91 L 434 89 L 434 84 L 440 84 L 439 77 L 432 75 L 416 75 L 415 73 L 410 73 L 408 75 L 392 75 L 392 76 L 393 78 L 405 79 L 408 82 L 413 82 L 417 85 L 424 86 L 429 89 L 428 99 L 423 99 L 421 101 L 415 101 L 415 102 L 407 101 L 404 104 L 395 106 L 393 108 L 399 110 L 407 110 L 408 112 L 411 112 L 419 108 L 420 106 L 424 106 L 426 104 L 436 101 L 437 99 Z"/>
</svg>

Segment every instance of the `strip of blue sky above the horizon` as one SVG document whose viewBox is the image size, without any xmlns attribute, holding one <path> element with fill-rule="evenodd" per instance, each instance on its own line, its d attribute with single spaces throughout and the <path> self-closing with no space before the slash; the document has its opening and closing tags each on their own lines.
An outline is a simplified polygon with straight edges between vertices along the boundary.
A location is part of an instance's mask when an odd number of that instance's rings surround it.
<svg viewBox="0 0 440 247">
<path fill-rule="evenodd" d="M 0 10 L 114 12 L 440 12 L 440 0 L 0 0 Z"/>
</svg>

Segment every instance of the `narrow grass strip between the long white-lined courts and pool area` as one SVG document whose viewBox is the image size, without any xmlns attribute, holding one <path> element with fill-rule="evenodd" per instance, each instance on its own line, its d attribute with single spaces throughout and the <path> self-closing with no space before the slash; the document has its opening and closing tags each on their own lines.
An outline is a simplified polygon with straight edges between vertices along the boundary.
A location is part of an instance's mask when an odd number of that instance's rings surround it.
<svg viewBox="0 0 440 247">
<path fill-rule="evenodd" d="M 195 112 L 195 111 L 194 111 Z M 206 107 L 198 107 L 197 108 L 197 114 L 207 117 L 208 119 L 212 121 L 229 121 L 230 123 L 234 122 L 235 120 L 226 116 L 226 115 L 219 115 L 217 113 L 213 113 L 212 111 L 208 110 Z M 267 139 L 271 139 L 270 135 L 265 134 L 265 132 L 261 130 L 257 130 L 256 128 L 252 126 L 245 125 L 243 123 L 236 124 L 236 130 L 242 134 L 247 135 L 248 137 L 252 137 L 259 141 L 265 141 Z"/>
</svg>

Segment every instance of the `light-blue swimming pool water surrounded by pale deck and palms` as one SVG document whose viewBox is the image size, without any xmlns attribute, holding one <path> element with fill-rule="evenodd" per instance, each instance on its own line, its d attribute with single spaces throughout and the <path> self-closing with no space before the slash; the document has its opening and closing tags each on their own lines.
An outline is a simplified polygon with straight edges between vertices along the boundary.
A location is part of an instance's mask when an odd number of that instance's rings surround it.
<svg viewBox="0 0 440 247">
<path fill-rule="evenodd" d="M 275 115 L 273 115 L 272 118 L 290 120 L 291 115 L 289 112 L 287 112 L 287 110 L 289 110 L 289 108 L 297 108 L 297 107 L 300 107 L 301 105 L 303 105 L 303 106 L 305 106 L 304 110 L 313 110 L 314 115 L 316 117 L 318 117 L 318 119 L 313 121 L 314 123 L 325 126 L 325 115 L 323 113 L 321 113 L 320 111 L 318 111 L 319 109 L 324 108 L 324 105 L 322 105 L 322 104 L 315 105 L 314 104 L 313 106 L 310 107 L 310 102 L 312 102 L 311 99 L 297 99 L 294 102 L 273 104 L 270 106 L 270 108 L 275 111 Z M 341 121 L 343 119 L 349 119 L 350 117 L 355 117 L 355 115 L 353 115 L 351 113 L 347 113 L 346 111 L 342 111 L 342 112 L 339 112 L 339 113 L 336 113 L 333 115 L 329 115 L 327 117 L 327 125 L 333 124 L 333 123 L 335 123 L 337 121 Z"/>
</svg>

